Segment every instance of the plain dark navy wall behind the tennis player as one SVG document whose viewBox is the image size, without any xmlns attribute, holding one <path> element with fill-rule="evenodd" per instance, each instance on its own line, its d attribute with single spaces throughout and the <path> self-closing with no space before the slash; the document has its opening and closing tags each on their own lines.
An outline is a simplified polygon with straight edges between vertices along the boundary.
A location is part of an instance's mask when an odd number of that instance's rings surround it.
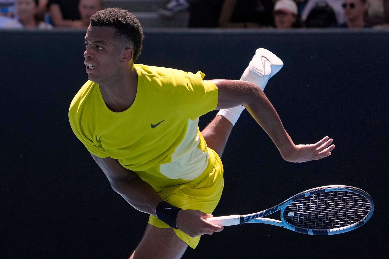
<svg viewBox="0 0 389 259">
<path fill-rule="evenodd" d="M 128 258 L 148 216 L 111 188 L 74 136 L 68 106 L 87 80 L 84 31 L 0 32 L 2 258 Z M 222 157 L 215 216 L 267 209 L 306 189 L 367 191 L 363 227 L 308 236 L 264 224 L 202 237 L 183 258 L 387 258 L 389 31 L 146 30 L 138 63 L 239 79 L 258 47 L 284 61 L 265 93 L 296 144 L 336 148 L 307 163 L 282 160 L 244 111 Z M 216 112 L 200 118 L 203 128 Z"/>
</svg>

